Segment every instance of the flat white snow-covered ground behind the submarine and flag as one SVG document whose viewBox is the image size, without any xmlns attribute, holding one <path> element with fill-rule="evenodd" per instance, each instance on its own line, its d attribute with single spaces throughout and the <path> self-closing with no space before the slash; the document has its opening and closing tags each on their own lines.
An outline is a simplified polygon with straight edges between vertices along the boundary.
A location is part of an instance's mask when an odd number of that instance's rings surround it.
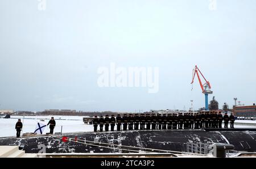
<svg viewBox="0 0 256 169">
<path fill-rule="evenodd" d="M 60 132 L 61 126 L 63 126 L 62 132 L 89 132 L 93 131 L 92 125 L 86 125 L 82 121 L 82 116 L 54 116 L 56 120 L 56 127 L 54 132 Z M 23 133 L 32 133 L 35 131 L 37 122 L 47 124 L 51 116 L 11 116 L 11 119 L 0 119 L 0 137 L 15 136 L 15 124 L 21 119 L 23 121 Z M 40 121 L 44 119 L 44 121 Z M 236 122 L 255 123 L 253 120 L 236 120 Z M 229 125 L 230 126 L 230 125 Z M 234 125 L 235 128 L 253 128 L 253 126 Z M 44 134 L 49 132 L 49 128 L 44 130 Z"/>
</svg>

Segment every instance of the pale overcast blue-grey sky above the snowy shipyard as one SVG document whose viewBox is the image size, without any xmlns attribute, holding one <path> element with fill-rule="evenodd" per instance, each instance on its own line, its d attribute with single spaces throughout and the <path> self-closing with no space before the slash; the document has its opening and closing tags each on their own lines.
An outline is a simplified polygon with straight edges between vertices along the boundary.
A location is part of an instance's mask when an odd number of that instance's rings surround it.
<svg viewBox="0 0 256 169">
<path fill-rule="evenodd" d="M 256 1 L 0 0 L 0 109 L 204 107 L 192 69 L 231 107 L 256 102 Z M 97 69 L 159 67 L 159 91 L 98 87 Z"/>
</svg>

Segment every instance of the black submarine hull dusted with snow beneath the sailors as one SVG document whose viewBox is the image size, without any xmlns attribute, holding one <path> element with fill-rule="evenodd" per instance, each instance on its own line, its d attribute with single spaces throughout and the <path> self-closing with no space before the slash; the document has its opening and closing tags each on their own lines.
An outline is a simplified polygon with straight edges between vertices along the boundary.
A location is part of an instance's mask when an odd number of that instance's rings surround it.
<svg viewBox="0 0 256 169">
<path fill-rule="evenodd" d="M 77 138 L 80 142 L 63 142 L 61 137 Z M 46 153 L 133 153 L 133 149 L 114 149 L 112 145 L 135 146 L 148 149 L 187 151 L 187 142 L 230 143 L 236 151 L 256 152 L 256 129 L 201 129 L 201 130 L 132 130 L 122 132 L 84 132 L 65 133 L 52 136 L 35 137 L 1 137 L 0 145 L 18 145 L 26 153 L 39 153 L 42 144 Z M 86 145 L 86 143 L 101 144 L 106 147 Z M 88 142 L 92 141 L 92 142 Z M 40 146 L 41 145 L 41 146 Z M 99 145 L 99 144 L 97 144 Z M 121 146 L 122 145 L 122 146 Z M 117 147 L 118 146 L 114 146 Z M 136 149 L 138 150 L 138 149 Z M 142 150 L 143 151 L 143 150 Z M 161 153 L 161 152 L 158 152 Z M 162 152 L 163 153 L 163 152 Z"/>
</svg>

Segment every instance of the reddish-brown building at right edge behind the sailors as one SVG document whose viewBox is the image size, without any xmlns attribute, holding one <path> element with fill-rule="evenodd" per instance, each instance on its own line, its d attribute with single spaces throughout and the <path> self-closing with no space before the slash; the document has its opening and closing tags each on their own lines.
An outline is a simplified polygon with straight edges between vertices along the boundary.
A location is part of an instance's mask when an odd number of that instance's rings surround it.
<svg viewBox="0 0 256 169">
<path fill-rule="evenodd" d="M 256 117 L 256 105 L 237 105 L 233 107 L 234 116 Z"/>
</svg>

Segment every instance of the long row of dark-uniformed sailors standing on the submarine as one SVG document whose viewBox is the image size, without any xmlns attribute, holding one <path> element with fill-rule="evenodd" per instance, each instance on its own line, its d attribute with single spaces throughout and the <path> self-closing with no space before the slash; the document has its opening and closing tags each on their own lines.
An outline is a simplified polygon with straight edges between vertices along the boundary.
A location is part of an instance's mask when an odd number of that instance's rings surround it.
<svg viewBox="0 0 256 169">
<path fill-rule="evenodd" d="M 224 128 L 228 128 L 228 123 L 230 122 L 230 128 L 234 128 L 234 116 L 233 113 L 228 116 L 228 113 L 225 113 L 222 116 L 221 112 L 200 112 L 200 113 L 173 113 L 173 114 L 157 114 L 152 113 L 141 114 L 129 114 L 127 117 L 126 114 L 121 117 L 109 118 L 108 115 L 100 117 L 97 116 L 93 119 L 94 132 L 97 132 L 97 127 L 100 125 L 100 131 L 103 131 L 103 126 L 105 125 L 105 131 L 109 131 L 109 125 L 111 131 L 114 131 L 114 126 L 117 125 L 117 130 L 160 130 L 160 129 L 200 129 L 200 128 L 222 128 L 222 121 L 224 121 Z M 146 127 L 145 127 L 146 125 Z"/>
</svg>

